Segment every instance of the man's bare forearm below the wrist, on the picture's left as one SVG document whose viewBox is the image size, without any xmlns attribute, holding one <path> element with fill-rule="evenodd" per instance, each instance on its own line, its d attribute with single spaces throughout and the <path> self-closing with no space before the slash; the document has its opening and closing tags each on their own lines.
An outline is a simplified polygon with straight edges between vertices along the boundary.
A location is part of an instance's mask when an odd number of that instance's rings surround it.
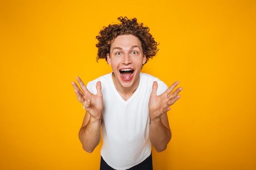
<svg viewBox="0 0 256 170">
<path fill-rule="evenodd" d="M 82 126 L 79 131 L 79 139 L 86 152 L 91 153 L 101 140 L 101 119 L 90 121 Z"/>
</svg>

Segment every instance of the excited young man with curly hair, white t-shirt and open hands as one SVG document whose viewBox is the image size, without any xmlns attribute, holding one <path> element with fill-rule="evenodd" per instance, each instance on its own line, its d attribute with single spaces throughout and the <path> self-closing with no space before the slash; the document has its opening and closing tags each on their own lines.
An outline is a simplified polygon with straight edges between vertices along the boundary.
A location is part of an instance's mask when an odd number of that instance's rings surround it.
<svg viewBox="0 0 256 170">
<path fill-rule="evenodd" d="M 158 51 L 149 28 L 136 18 L 118 18 L 120 24 L 103 27 L 97 61 L 105 59 L 112 73 L 87 84 L 76 77 L 76 96 L 86 110 L 79 139 L 92 152 L 101 140 L 100 170 L 152 170 L 151 144 L 157 152 L 171 139 L 167 111 L 182 88 L 169 88 L 156 77 L 141 73 Z"/>
</svg>

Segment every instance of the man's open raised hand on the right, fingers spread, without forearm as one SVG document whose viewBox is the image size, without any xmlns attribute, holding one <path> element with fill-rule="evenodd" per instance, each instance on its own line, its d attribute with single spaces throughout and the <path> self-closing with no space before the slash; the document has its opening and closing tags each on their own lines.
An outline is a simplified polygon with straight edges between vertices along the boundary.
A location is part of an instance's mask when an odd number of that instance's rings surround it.
<svg viewBox="0 0 256 170">
<path fill-rule="evenodd" d="M 171 85 L 162 95 L 157 96 L 158 85 L 157 82 L 153 82 L 152 93 L 148 103 L 151 120 L 154 120 L 166 113 L 168 110 L 171 110 L 170 106 L 180 98 L 180 95 L 178 94 L 182 90 L 182 87 L 177 88 L 173 93 L 171 93 L 177 84 L 179 84 L 179 82 L 173 83 L 173 85 Z"/>
</svg>

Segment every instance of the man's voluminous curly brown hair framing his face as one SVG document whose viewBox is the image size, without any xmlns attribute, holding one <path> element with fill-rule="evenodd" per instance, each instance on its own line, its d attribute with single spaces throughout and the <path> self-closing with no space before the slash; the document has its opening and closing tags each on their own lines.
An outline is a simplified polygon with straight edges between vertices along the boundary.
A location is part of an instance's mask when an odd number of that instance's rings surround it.
<svg viewBox="0 0 256 170">
<path fill-rule="evenodd" d="M 146 54 L 146 62 L 150 58 L 153 58 L 157 51 L 157 42 L 155 42 L 153 36 L 149 33 L 149 28 L 143 26 L 143 23 L 138 23 L 136 18 L 129 20 L 127 17 L 117 18 L 120 24 L 109 24 L 107 27 L 103 26 L 103 29 L 96 36 L 99 41 L 96 44 L 98 47 L 97 62 L 101 58 L 105 58 L 107 61 L 107 53 L 110 53 L 110 45 L 119 35 L 131 34 L 139 38 L 144 54 Z M 145 64 L 146 64 L 145 62 Z"/>
</svg>

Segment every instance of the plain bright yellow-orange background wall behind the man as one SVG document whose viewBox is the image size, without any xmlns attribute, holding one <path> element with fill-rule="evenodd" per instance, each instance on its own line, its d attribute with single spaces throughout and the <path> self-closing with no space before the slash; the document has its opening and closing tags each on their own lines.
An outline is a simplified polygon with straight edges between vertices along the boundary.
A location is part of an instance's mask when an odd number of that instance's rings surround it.
<svg viewBox="0 0 256 170">
<path fill-rule="evenodd" d="M 100 146 L 79 142 L 71 82 L 110 73 L 95 37 L 119 16 L 160 43 L 142 71 L 184 88 L 154 169 L 255 170 L 255 0 L 0 0 L 0 169 L 99 169 Z"/>
</svg>

